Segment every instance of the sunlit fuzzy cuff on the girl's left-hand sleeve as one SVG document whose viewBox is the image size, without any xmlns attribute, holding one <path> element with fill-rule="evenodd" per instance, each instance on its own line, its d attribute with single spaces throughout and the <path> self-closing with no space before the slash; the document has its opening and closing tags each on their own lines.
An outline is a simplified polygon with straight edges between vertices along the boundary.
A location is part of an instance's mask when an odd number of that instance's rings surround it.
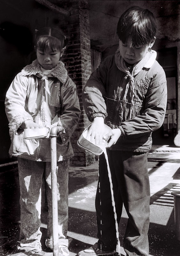
<svg viewBox="0 0 180 256">
<path fill-rule="evenodd" d="M 28 112 L 19 113 L 18 115 L 13 116 L 9 123 L 10 132 L 16 134 L 20 125 L 26 120 L 31 120 L 34 122 L 33 117 Z"/>
</svg>

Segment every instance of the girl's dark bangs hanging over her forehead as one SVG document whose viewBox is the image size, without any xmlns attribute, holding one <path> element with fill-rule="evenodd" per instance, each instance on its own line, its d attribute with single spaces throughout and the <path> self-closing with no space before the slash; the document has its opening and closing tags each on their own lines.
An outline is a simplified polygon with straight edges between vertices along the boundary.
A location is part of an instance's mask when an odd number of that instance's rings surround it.
<svg viewBox="0 0 180 256">
<path fill-rule="evenodd" d="M 52 36 L 40 36 L 36 43 L 36 47 L 42 52 L 45 52 L 47 49 L 52 52 L 55 50 L 61 51 L 61 45 L 61 41 Z"/>
</svg>

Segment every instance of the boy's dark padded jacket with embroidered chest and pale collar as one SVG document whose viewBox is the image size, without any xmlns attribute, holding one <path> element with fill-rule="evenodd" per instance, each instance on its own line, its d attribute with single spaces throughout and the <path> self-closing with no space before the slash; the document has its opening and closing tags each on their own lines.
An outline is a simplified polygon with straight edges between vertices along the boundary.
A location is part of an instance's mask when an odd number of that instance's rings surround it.
<svg viewBox="0 0 180 256">
<path fill-rule="evenodd" d="M 86 115 L 90 121 L 96 116 L 102 116 L 105 124 L 112 129 L 121 130 L 122 134 L 111 150 L 147 152 L 152 146 L 151 133 L 161 127 L 165 117 L 165 72 L 154 57 L 151 57 L 134 76 L 133 111 L 130 119 L 130 88 L 122 108 L 129 77 L 118 69 L 115 57 L 116 55 L 108 56 L 89 77 L 82 94 Z"/>
</svg>

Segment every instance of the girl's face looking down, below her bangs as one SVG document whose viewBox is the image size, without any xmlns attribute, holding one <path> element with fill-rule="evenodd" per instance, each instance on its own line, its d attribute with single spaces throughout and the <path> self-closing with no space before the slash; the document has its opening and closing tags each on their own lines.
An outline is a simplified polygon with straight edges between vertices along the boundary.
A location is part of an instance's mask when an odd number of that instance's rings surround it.
<svg viewBox="0 0 180 256">
<path fill-rule="evenodd" d="M 36 50 L 37 60 L 44 69 L 52 69 L 59 62 L 59 58 L 62 56 L 59 50 L 51 51 L 47 49 L 45 52 Z"/>
</svg>

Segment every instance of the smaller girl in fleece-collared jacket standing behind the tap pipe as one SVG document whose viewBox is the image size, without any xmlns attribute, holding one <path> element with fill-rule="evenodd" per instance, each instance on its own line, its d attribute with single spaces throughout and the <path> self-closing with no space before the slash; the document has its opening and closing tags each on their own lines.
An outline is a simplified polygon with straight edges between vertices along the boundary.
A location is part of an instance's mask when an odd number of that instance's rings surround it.
<svg viewBox="0 0 180 256">
<path fill-rule="evenodd" d="M 41 187 L 45 172 L 48 198 L 46 245 L 52 244 L 52 193 L 50 139 L 24 139 L 24 129 L 49 127 L 58 123 L 64 131 L 57 137 L 57 193 L 59 255 L 68 256 L 68 169 L 73 156 L 70 138 L 79 121 L 80 107 L 76 85 L 60 60 L 67 39 L 58 28 L 36 31 L 37 59 L 23 68 L 11 83 L 5 99 L 9 120 L 10 155 L 18 157 L 20 182 L 20 244 L 25 252 L 41 251 Z"/>
</svg>

